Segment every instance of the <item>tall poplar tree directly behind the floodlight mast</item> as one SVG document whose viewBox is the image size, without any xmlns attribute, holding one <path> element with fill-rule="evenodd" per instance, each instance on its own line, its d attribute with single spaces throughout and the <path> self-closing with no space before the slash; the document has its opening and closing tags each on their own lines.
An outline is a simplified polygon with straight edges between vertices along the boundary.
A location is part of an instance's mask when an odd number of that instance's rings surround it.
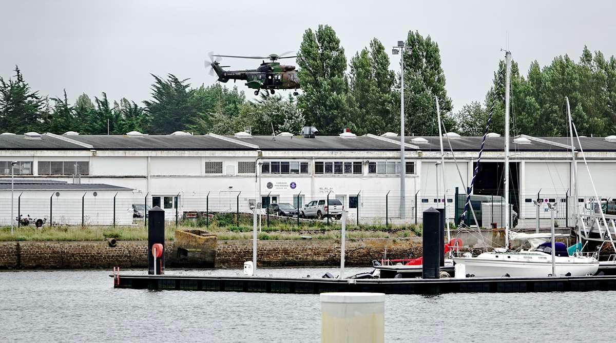
<svg viewBox="0 0 616 343">
<path fill-rule="evenodd" d="M 404 53 L 405 132 L 407 135 L 438 135 L 435 97 L 439 99 L 445 127 L 455 131 L 455 120 L 447 115 L 452 100 L 445 89 L 439 45 L 431 37 L 408 31 Z"/>
</svg>

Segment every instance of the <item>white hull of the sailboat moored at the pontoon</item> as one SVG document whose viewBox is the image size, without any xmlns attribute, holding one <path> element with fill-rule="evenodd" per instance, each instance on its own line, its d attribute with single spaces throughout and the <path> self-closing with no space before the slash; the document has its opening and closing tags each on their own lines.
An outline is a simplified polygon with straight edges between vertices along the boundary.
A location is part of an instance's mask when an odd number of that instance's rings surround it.
<svg viewBox="0 0 616 343">
<path fill-rule="evenodd" d="M 543 254 L 483 253 L 477 257 L 454 258 L 464 264 L 466 274 L 476 277 L 547 277 L 552 274 L 551 256 Z M 544 259 L 539 261 L 539 259 Z M 556 276 L 594 275 L 599 262 L 593 258 L 556 256 Z"/>
</svg>

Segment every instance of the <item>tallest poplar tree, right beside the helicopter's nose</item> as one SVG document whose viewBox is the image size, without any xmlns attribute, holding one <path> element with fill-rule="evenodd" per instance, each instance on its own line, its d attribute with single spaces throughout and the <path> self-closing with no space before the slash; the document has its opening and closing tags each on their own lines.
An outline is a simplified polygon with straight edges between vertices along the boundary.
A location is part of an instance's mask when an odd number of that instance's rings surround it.
<svg viewBox="0 0 616 343">
<path fill-rule="evenodd" d="M 322 134 L 341 132 L 352 121 L 347 106 L 347 61 L 333 28 L 319 25 L 317 31 L 306 30 L 296 61 L 304 90 L 298 97 L 298 106 L 306 124 L 317 127 Z"/>
</svg>

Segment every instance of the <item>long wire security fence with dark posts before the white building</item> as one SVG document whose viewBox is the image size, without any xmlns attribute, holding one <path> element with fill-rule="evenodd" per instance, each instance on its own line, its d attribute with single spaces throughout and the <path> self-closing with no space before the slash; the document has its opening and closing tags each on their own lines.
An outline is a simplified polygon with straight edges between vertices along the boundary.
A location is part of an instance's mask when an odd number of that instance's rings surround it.
<svg viewBox="0 0 616 343">
<path fill-rule="evenodd" d="M 15 192 L 11 199 L 10 192 L 0 193 L 0 226 L 34 224 L 44 225 L 81 225 L 81 226 L 126 226 L 147 225 L 147 210 L 158 206 L 165 211 L 167 221 L 209 226 L 217 215 L 225 214 L 225 220 L 218 220 L 219 225 L 247 224 L 257 207 L 257 214 L 265 216 L 292 216 L 290 223 L 304 225 L 319 221 L 336 222 L 340 219 L 342 207 L 349 224 L 362 225 L 400 225 L 420 224 L 422 212 L 430 207 L 445 208 L 450 223 L 458 223 L 464 210 L 466 194 L 448 192 L 447 195 L 422 193 L 407 195 L 403 206 L 399 194 L 351 195 L 320 194 L 315 197 L 287 194 L 270 196 L 253 192 L 168 192 L 171 195 L 154 195 L 129 192 Z M 568 194 L 534 194 L 511 195 L 511 227 L 549 227 L 551 213 L 546 203 L 554 203 L 554 221 L 556 226 L 567 227 L 575 223 L 575 204 L 578 213 L 597 211 L 594 197 L 578 197 L 577 201 Z M 318 203 L 319 200 L 322 203 Z M 339 202 L 337 202 L 338 200 Z M 12 215 L 11 215 L 12 203 Z M 288 203 L 290 211 L 274 208 L 274 203 Z M 325 203 L 330 205 L 325 206 Z M 471 203 L 480 227 L 502 227 L 505 220 L 504 199 L 501 195 L 474 194 Z M 311 206 L 312 204 L 312 206 Z M 336 206 L 336 204 L 342 204 Z M 607 205 L 606 205 L 607 204 Z M 604 209 L 616 213 L 616 200 L 602 198 Z M 270 208 L 268 211 L 267 208 Z M 287 207 L 288 209 L 288 207 Z M 17 221 L 17 218 L 22 218 Z M 240 218 L 244 218 L 240 223 Z M 538 221 L 537 221 L 538 218 Z M 40 220 L 38 220 L 40 219 Z M 495 223 L 495 224 L 492 224 Z M 466 224 L 473 226 L 474 218 L 466 216 Z"/>
</svg>

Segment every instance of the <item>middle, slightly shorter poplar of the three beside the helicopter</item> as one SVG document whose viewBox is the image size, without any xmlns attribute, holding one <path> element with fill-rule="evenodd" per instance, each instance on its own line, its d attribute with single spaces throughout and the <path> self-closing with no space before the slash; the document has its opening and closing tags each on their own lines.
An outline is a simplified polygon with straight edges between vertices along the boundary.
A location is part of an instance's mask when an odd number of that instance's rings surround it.
<svg viewBox="0 0 616 343">
<path fill-rule="evenodd" d="M 389 57 L 378 39 L 370 42 L 370 50 L 364 48 L 355 53 L 349 75 L 349 108 L 354 132 L 384 133 L 399 129 L 394 82 Z"/>
</svg>

